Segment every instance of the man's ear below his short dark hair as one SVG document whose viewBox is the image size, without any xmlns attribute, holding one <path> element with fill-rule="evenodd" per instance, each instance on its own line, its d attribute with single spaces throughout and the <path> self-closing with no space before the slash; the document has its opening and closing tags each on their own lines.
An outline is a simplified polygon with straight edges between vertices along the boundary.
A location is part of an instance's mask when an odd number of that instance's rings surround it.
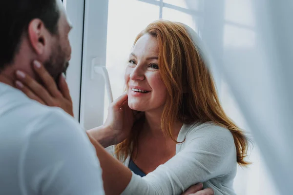
<svg viewBox="0 0 293 195">
<path fill-rule="evenodd" d="M 42 55 L 45 51 L 45 29 L 44 23 L 40 19 L 34 19 L 28 24 L 28 39 L 38 55 Z"/>
</svg>

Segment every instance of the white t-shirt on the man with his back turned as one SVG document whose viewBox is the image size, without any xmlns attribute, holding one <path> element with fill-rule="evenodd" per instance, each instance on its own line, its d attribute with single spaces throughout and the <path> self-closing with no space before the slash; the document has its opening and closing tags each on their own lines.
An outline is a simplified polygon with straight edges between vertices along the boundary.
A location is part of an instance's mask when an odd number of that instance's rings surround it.
<svg viewBox="0 0 293 195">
<path fill-rule="evenodd" d="M 0 83 L 0 195 L 104 195 L 102 171 L 83 128 Z"/>
</svg>

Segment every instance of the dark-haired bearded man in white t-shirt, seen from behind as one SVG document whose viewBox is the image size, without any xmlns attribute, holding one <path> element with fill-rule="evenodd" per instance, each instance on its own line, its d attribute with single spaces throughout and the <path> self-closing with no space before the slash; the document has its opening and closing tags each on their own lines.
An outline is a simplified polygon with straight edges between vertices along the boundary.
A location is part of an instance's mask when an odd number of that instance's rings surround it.
<svg viewBox="0 0 293 195">
<path fill-rule="evenodd" d="M 15 89 L 22 85 L 16 76 L 44 84 L 33 71 L 35 60 L 56 83 L 63 79 L 71 26 L 61 1 L 0 1 L 0 26 L 0 194 L 104 195 L 99 161 L 80 125 Z"/>
</svg>

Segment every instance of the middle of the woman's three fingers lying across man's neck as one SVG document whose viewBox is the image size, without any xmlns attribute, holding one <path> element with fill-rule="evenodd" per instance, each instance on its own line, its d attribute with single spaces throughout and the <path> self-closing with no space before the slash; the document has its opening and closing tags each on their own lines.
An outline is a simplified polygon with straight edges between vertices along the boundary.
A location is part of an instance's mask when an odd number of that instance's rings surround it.
<svg viewBox="0 0 293 195">
<path fill-rule="evenodd" d="M 36 80 L 34 80 L 29 75 L 19 70 L 16 71 L 16 77 L 21 81 L 23 85 L 25 85 L 25 94 L 28 97 L 30 97 L 31 94 L 34 94 L 34 96 L 37 96 L 38 98 L 42 99 L 42 101 L 46 103 L 46 105 L 54 106 L 54 100 L 51 97 L 51 95 Z"/>
</svg>

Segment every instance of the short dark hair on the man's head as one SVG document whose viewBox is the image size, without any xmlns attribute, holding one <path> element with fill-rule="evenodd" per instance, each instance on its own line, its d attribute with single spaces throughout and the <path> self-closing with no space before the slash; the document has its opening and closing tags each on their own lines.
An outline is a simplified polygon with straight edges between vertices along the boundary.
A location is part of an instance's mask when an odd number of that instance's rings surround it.
<svg viewBox="0 0 293 195">
<path fill-rule="evenodd" d="M 31 20 L 42 20 L 51 34 L 57 34 L 59 18 L 56 0 L 0 0 L 0 71 L 13 62 Z"/>
</svg>

